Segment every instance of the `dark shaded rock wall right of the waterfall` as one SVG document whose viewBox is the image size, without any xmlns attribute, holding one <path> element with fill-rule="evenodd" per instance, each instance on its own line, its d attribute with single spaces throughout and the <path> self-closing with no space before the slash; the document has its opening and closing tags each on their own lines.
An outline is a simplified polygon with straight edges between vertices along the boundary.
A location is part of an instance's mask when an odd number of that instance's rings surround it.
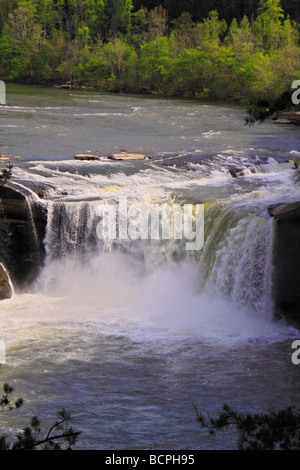
<svg viewBox="0 0 300 470">
<path fill-rule="evenodd" d="M 300 202 L 269 208 L 275 221 L 275 313 L 300 326 Z"/>
</svg>

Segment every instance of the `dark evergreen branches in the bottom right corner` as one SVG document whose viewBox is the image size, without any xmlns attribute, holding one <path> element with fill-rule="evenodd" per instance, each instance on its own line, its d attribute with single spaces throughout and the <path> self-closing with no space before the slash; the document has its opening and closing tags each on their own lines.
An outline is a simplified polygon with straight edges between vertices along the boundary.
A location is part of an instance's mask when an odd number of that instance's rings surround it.
<svg viewBox="0 0 300 470">
<path fill-rule="evenodd" d="M 239 450 L 300 450 L 300 411 L 292 407 L 252 414 L 238 413 L 224 404 L 217 418 L 195 410 L 199 423 L 211 434 L 236 429 Z"/>
</svg>

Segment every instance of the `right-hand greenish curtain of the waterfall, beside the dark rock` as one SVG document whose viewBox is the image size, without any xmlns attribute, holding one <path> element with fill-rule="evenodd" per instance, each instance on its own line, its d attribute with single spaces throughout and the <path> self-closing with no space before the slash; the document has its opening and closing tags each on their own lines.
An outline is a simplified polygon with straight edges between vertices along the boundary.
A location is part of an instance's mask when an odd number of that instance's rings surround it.
<svg viewBox="0 0 300 470">
<path fill-rule="evenodd" d="M 210 208 L 201 257 L 202 280 L 213 294 L 272 318 L 273 221 L 253 206 Z"/>
</svg>

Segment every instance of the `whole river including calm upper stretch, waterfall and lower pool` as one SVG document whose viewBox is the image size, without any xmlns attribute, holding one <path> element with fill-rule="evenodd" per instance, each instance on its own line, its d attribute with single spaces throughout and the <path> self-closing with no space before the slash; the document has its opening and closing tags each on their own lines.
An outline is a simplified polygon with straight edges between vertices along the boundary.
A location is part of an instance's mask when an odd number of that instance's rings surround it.
<svg viewBox="0 0 300 470">
<path fill-rule="evenodd" d="M 45 425 L 66 408 L 83 449 L 231 449 L 198 409 L 299 405 L 291 345 L 273 318 L 267 208 L 300 197 L 299 129 L 245 126 L 243 107 L 9 84 L 0 152 L 13 183 L 46 188 L 46 262 L 0 304 L 0 369 Z M 110 152 L 148 159 L 114 162 Z M 99 161 L 79 162 L 77 153 Z M 237 176 L 238 177 L 234 177 Z M 96 234 L 99 203 L 203 204 L 205 243 Z"/>
</svg>

